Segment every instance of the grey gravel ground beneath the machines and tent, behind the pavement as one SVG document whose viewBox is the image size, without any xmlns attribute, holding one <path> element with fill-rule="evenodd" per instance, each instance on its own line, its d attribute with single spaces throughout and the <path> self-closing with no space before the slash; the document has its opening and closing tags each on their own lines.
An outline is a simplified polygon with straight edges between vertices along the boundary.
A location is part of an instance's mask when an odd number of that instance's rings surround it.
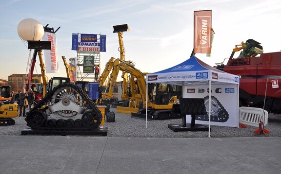
<svg viewBox="0 0 281 174">
<path fill-rule="evenodd" d="M 142 137 L 142 138 L 205 138 L 208 132 L 188 131 L 173 132 L 168 128 L 168 124 L 181 124 L 181 119 L 172 120 L 152 120 L 148 121 L 145 128 L 145 120 L 131 118 L 130 114 L 117 113 L 116 108 L 111 108 L 115 112 L 115 122 L 105 122 L 108 126 L 108 137 Z M 0 126 L 0 135 L 21 135 L 21 130 L 28 128 L 24 118 L 14 118 L 15 125 Z M 270 134 L 254 134 L 257 127 L 247 126 L 247 128 L 233 128 L 223 126 L 211 126 L 211 137 L 281 137 L 281 114 L 269 114 L 268 124 L 265 126 Z"/>
</svg>

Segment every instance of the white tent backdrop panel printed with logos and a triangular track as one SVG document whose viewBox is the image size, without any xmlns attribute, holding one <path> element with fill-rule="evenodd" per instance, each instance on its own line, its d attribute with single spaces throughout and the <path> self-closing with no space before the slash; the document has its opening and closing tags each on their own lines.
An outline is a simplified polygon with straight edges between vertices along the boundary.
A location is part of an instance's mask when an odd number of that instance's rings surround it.
<svg viewBox="0 0 281 174">
<path fill-rule="evenodd" d="M 184 87 L 183 98 L 203 98 L 206 111 L 211 103 L 211 125 L 239 126 L 239 98 L 238 86 L 235 84 L 212 85 L 211 90 L 206 85 L 193 85 Z M 211 101 L 209 101 L 211 92 Z M 231 99 L 231 100 L 229 100 Z M 197 124 L 209 124 L 209 115 L 196 115 Z M 190 115 L 186 122 L 191 122 Z"/>
</svg>

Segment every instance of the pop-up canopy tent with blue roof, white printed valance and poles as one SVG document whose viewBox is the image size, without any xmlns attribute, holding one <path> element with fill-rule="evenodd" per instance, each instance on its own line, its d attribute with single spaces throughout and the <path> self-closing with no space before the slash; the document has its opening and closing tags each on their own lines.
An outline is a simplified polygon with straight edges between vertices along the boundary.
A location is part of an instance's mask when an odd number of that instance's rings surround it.
<svg viewBox="0 0 281 174">
<path fill-rule="evenodd" d="M 148 83 L 165 83 L 171 85 L 181 85 L 182 92 L 184 96 L 184 87 L 195 86 L 195 85 L 208 85 L 209 89 L 212 84 L 223 86 L 225 84 L 232 84 L 235 87 L 233 88 L 233 93 L 236 95 L 236 100 L 230 100 L 229 102 L 234 102 L 234 106 L 237 106 L 235 110 L 239 110 L 238 100 L 239 100 L 239 76 L 226 73 L 224 71 L 213 68 L 206 63 L 202 62 L 195 56 L 190 57 L 186 61 L 182 62 L 179 65 L 173 66 L 166 70 L 161 70 L 154 73 L 149 73 L 146 75 L 146 85 Z M 229 88 L 228 88 L 229 89 Z M 188 91 L 188 90 L 187 90 Z M 212 90 L 210 90 L 212 91 Z M 194 93 L 196 91 L 194 90 Z M 225 88 L 225 93 L 227 92 Z M 147 91 L 146 91 L 147 95 Z M 211 101 L 211 92 L 209 92 L 209 101 Z M 147 99 L 147 96 L 146 96 Z M 146 101 L 147 106 L 147 101 Z M 208 109 L 207 109 L 208 108 Z M 209 114 L 209 137 L 210 137 L 210 127 L 211 127 L 211 102 L 208 102 L 208 107 L 206 106 L 206 111 Z M 238 118 L 238 115 L 237 115 Z M 236 119 L 239 124 L 238 119 Z M 147 108 L 146 108 L 146 122 L 145 127 L 147 128 Z"/>
</svg>

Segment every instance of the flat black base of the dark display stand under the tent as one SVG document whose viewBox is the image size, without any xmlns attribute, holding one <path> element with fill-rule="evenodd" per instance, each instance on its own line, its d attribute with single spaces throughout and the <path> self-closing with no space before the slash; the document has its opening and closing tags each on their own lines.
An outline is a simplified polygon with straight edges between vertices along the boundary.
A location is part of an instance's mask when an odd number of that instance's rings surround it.
<svg viewBox="0 0 281 174">
<path fill-rule="evenodd" d="M 174 132 L 181 132 L 181 131 L 209 131 L 208 126 L 204 126 L 202 124 L 186 124 L 182 126 L 182 124 L 168 124 L 168 128 L 170 128 Z"/>
</svg>

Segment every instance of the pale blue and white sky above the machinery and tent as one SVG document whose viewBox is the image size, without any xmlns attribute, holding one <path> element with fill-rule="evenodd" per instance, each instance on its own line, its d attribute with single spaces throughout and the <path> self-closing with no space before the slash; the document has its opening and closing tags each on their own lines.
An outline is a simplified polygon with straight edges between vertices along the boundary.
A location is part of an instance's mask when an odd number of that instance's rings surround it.
<svg viewBox="0 0 281 174">
<path fill-rule="evenodd" d="M 120 24 L 130 27 L 123 33 L 125 60 L 137 69 L 156 72 L 180 64 L 193 50 L 193 13 L 199 10 L 212 10 L 211 57 L 196 54 L 210 66 L 223 62 L 247 39 L 260 42 L 264 52 L 281 51 L 280 0 L 1 0 L 0 79 L 27 70 L 29 50 L 17 32 L 25 18 L 60 27 L 56 33 L 60 73 L 47 73 L 51 78 L 66 77 L 62 55 L 77 56 L 71 50 L 73 33 L 106 35 L 101 72 L 110 57 L 120 58 L 118 34 L 113 33 L 113 26 Z M 40 74 L 39 60 L 34 73 Z"/>
</svg>

